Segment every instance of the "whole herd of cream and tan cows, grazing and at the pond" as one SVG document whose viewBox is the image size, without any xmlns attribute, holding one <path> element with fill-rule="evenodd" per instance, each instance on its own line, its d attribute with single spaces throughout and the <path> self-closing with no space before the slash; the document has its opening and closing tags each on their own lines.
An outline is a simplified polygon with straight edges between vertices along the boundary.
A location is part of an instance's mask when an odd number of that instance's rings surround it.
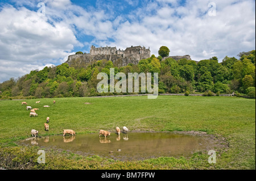
<svg viewBox="0 0 256 181">
<path fill-rule="evenodd" d="M 40 101 L 37 101 L 36 103 L 40 103 Z M 53 100 L 53 104 L 55 104 L 56 103 L 56 101 L 55 100 Z M 26 102 L 22 102 L 22 105 L 27 105 L 27 103 Z M 49 106 L 43 106 L 43 107 L 49 107 Z M 39 108 L 33 108 L 32 109 L 32 107 L 31 106 L 27 106 L 26 107 L 26 110 L 30 110 L 30 117 L 31 116 L 38 116 L 38 114 L 35 112 L 36 110 L 39 110 Z M 49 131 L 49 117 L 47 117 L 46 118 L 46 123 L 44 123 L 44 130 L 45 131 Z M 118 134 L 118 136 L 120 135 L 120 132 L 121 132 L 121 129 L 119 128 L 119 127 L 116 127 L 115 128 L 115 131 L 117 132 L 117 134 Z M 122 132 L 123 133 L 127 133 L 127 131 L 129 131 L 129 129 L 128 128 L 126 128 L 126 127 L 123 127 L 123 130 L 122 130 Z M 31 129 L 31 135 L 32 135 L 32 137 L 36 137 L 36 136 L 38 136 L 38 133 L 39 133 L 39 131 L 36 131 L 35 129 Z M 75 135 L 76 134 L 76 132 L 75 131 L 73 131 L 72 129 L 64 129 L 63 130 L 63 136 L 65 136 L 65 134 L 69 134 L 69 135 L 71 135 L 72 134 L 72 136 L 73 135 Z M 108 131 L 104 131 L 104 130 L 100 130 L 100 134 L 99 134 L 99 136 L 105 136 L 105 138 L 107 137 L 107 136 L 110 136 L 110 132 L 108 132 Z"/>
</svg>

